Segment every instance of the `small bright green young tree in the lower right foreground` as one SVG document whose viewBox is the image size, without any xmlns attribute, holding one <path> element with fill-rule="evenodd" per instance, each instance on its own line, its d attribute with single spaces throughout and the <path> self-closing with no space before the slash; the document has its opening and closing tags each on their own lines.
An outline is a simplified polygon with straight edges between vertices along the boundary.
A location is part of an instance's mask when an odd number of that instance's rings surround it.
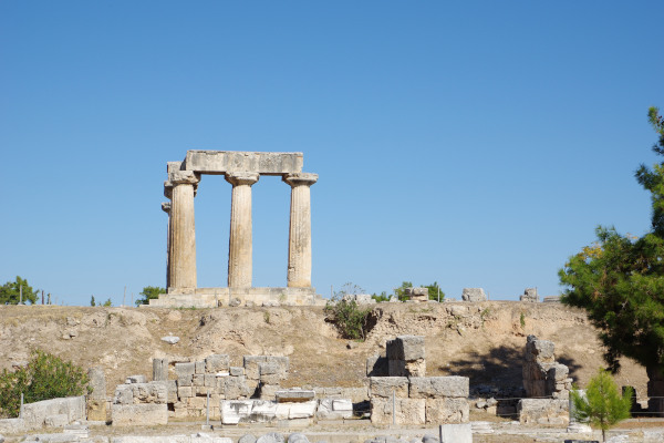
<svg viewBox="0 0 664 443">
<path fill-rule="evenodd" d="M 632 409 L 632 388 L 619 394 L 618 385 L 605 370 L 593 377 L 585 388 L 585 396 L 572 391 L 574 418 L 580 422 L 590 422 L 602 430 L 602 440 L 606 441 L 606 431 L 620 421 L 629 419 Z"/>
</svg>

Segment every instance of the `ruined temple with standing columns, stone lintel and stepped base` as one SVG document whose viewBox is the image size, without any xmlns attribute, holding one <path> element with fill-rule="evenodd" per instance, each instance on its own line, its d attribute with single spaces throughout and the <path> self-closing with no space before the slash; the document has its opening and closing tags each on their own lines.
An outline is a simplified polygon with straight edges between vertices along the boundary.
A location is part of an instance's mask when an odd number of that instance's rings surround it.
<svg viewBox="0 0 664 443">
<path fill-rule="evenodd" d="M 240 305 L 314 305 L 311 286 L 310 186 L 317 174 L 303 173 L 302 153 L 188 151 L 183 162 L 168 162 L 162 204 L 168 214 L 167 293 L 151 306 L 217 307 Z M 198 288 L 194 197 L 203 174 L 224 175 L 232 185 L 228 286 Z M 291 187 L 287 286 L 255 288 L 252 275 L 251 186 L 261 175 L 281 176 Z"/>
</svg>

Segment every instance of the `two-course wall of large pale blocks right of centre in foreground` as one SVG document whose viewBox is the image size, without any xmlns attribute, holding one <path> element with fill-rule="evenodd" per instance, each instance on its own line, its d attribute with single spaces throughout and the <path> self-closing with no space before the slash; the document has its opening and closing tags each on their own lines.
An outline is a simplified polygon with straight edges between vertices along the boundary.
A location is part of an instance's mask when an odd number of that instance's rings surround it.
<svg viewBox="0 0 664 443">
<path fill-rule="evenodd" d="M 392 424 L 467 423 L 467 377 L 372 377 L 371 422 Z M 393 396 L 394 395 L 394 396 Z"/>
</svg>

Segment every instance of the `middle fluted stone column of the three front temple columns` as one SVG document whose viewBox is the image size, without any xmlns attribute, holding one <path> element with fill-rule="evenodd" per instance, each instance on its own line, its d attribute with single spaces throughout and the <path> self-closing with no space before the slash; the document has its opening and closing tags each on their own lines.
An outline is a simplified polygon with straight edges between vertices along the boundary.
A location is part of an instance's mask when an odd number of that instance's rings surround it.
<svg viewBox="0 0 664 443">
<path fill-rule="evenodd" d="M 227 173 L 232 185 L 230 204 L 230 239 L 228 241 L 228 287 L 251 287 L 251 185 L 258 182 L 257 173 Z"/>
</svg>

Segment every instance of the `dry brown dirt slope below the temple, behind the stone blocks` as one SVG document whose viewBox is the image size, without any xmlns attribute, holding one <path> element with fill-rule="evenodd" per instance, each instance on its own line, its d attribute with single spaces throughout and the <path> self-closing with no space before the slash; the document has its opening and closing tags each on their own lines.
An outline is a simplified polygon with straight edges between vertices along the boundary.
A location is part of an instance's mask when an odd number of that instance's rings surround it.
<svg viewBox="0 0 664 443">
<path fill-rule="evenodd" d="M 522 320 L 522 321 L 521 321 Z M 580 385 L 602 365 L 602 349 L 585 315 L 557 303 L 380 303 L 372 330 L 352 349 L 322 308 L 155 309 L 55 306 L 0 307 L 0 369 L 28 360 L 32 348 L 106 371 L 108 393 L 129 374 L 152 377 L 155 357 L 228 353 L 288 356 L 287 385 L 362 385 L 365 361 L 397 334 L 426 336 L 427 374 L 461 374 L 470 385 L 520 387 L 527 334 L 552 340 L 559 361 Z M 522 326 L 523 324 L 523 326 Z M 160 340 L 180 337 L 177 344 Z M 618 381 L 645 394 L 645 371 L 623 362 Z"/>
</svg>

